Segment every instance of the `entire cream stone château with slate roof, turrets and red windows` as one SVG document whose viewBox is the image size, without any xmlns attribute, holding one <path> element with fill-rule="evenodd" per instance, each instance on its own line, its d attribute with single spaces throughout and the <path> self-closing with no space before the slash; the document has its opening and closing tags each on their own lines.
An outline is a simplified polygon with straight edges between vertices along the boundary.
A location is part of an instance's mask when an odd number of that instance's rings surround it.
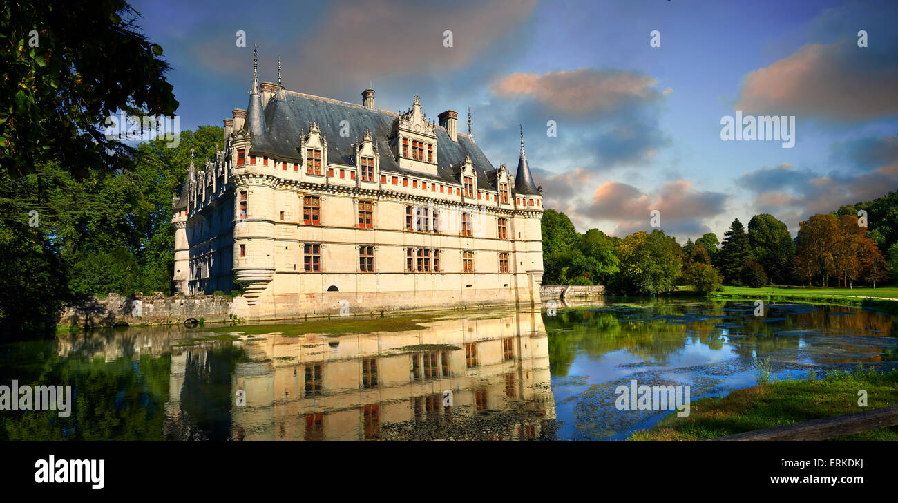
<svg viewBox="0 0 898 503">
<path fill-rule="evenodd" d="M 225 119 L 225 146 L 191 159 L 175 225 L 174 286 L 249 281 L 254 319 L 540 302 L 541 189 L 524 155 L 494 168 L 458 115 L 394 113 L 259 84 Z"/>
</svg>

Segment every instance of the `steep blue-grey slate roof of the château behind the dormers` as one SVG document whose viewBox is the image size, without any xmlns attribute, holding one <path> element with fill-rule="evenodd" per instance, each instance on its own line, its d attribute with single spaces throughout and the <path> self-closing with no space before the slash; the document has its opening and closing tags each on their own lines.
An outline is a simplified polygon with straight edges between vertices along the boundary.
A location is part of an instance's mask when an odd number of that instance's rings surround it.
<svg viewBox="0 0 898 503">
<path fill-rule="evenodd" d="M 258 103 L 255 102 L 259 100 Z M 271 154 L 280 158 L 302 160 L 297 148 L 304 129 L 318 123 L 321 133 L 328 142 L 328 159 L 333 163 L 347 165 L 356 164 L 353 144 L 361 140 L 365 129 L 370 130 L 380 154 L 380 167 L 383 172 L 395 172 L 431 180 L 458 183 L 458 172 L 465 155 L 471 157 L 474 171 L 477 173 L 480 189 L 496 190 L 496 168 L 489 163 L 486 155 L 467 135 L 458 134 L 458 142 L 453 142 L 445 128 L 436 126 L 437 174 L 405 170 L 392 156 L 388 138 L 392 132 L 392 124 L 397 114 L 385 110 L 371 110 L 362 105 L 345 101 L 330 100 L 304 93 L 280 90 L 269 100 L 264 114 L 254 117 L 252 109 L 260 106 L 258 95 L 250 96 L 247 107 L 246 125 L 252 136 L 253 154 Z M 340 122 L 348 120 L 349 135 L 340 137 Z M 267 126 L 266 126 L 267 125 Z M 265 128 L 264 134 L 253 129 Z"/>
</svg>

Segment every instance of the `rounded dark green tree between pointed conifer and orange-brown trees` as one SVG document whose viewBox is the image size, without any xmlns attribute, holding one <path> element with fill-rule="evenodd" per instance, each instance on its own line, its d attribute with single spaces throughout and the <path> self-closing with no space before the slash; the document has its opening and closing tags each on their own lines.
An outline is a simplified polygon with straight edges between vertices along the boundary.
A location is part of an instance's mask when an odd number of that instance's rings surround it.
<svg viewBox="0 0 898 503">
<path fill-rule="evenodd" d="M 767 213 L 755 215 L 748 222 L 748 242 L 770 282 L 787 283 L 795 244 L 786 224 Z"/>
</svg>

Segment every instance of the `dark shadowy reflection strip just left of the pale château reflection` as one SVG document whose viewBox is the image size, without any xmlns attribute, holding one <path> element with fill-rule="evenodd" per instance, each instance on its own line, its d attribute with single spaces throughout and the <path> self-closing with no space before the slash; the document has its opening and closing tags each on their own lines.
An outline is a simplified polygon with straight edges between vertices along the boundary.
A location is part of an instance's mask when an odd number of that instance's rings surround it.
<svg viewBox="0 0 898 503">
<path fill-rule="evenodd" d="M 231 376 L 242 350 L 230 344 L 216 349 L 189 349 L 180 388 L 184 440 L 227 440 L 231 435 Z"/>
</svg>

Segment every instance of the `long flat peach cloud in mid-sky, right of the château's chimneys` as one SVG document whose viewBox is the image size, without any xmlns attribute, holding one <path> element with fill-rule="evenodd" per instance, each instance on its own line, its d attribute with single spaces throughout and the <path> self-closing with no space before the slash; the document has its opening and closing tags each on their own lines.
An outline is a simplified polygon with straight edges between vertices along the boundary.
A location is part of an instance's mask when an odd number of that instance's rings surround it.
<svg viewBox="0 0 898 503">
<path fill-rule="evenodd" d="M 631 104 L 657 101 L 660 93 L 655 84 L 654 78 L 637 72 L 580 68 L 542 75 L 512 74 L 494 82 L 490 89 L 499 97 L 531 99 L 565 114 L 601 118 Z"/>
</svg>

